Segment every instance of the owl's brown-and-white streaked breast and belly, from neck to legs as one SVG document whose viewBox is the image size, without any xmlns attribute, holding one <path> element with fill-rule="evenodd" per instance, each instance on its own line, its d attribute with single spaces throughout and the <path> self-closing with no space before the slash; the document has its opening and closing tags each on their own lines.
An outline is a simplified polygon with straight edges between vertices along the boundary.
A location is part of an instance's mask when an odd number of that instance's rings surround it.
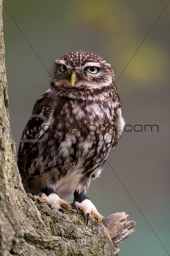
<svg viewBox="0 0 170 256">
<path fill-rule="evenodd" d="M 38 153 L 29 177 L 49 172 L 48 180 L 60 196 L 73 193 L 85 177 L 95 178 L 115 142 L 115 108 L 111 100 L 59 98 L 49 120 L 48 139 L 32 148 Z"/>
</svg>

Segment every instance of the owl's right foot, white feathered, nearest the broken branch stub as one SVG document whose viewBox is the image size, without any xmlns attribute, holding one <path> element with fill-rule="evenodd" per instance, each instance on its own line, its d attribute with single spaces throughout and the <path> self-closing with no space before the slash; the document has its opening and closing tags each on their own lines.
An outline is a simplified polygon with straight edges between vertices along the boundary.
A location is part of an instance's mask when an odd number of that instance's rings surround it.
<svg viewBox="0 0 170 256">
<path fill-rule="evenodd" d="M 79 203 L 79 202 L 75 201 L 75 204 L 79 208 L 79 210 L 84 213 L 85 219 L 87 220 L 87 224 L 88 224 L 88 221 L 91 218 L 91 215 L 99 223 L 102 223 L 105 220 L 105 218 L 102 215 L 100 215 L 100 213 L 97 211 L 94 204 L 91 203 L 91 200 L 85 199 L 85 200 L 82 201 L 82 203 Z"/>
</svg>

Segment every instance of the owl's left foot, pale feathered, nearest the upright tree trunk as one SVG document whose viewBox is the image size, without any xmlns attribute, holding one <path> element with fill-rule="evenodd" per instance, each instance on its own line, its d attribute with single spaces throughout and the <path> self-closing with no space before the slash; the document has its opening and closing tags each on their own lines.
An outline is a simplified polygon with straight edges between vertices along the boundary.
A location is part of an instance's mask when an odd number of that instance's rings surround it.
<svg viewBox="0 0 170 256">
<path fill-rule="evenodd" d="M 64 209 L 67 209 L 70 211 L 72 209 L 71 204 L 67 201 L 61 200 L 60 197 L 58 197 L 58 194 L 50 194 L 48 197 L 46 194 L 40 194 L 40 197 L 46 201 L 46 204 L 50 206 L 52 209 L 57 209 L 60 212 L 64 213 Z M 61 208 L 62 207 L 62 208 Z"/>
</svg>

